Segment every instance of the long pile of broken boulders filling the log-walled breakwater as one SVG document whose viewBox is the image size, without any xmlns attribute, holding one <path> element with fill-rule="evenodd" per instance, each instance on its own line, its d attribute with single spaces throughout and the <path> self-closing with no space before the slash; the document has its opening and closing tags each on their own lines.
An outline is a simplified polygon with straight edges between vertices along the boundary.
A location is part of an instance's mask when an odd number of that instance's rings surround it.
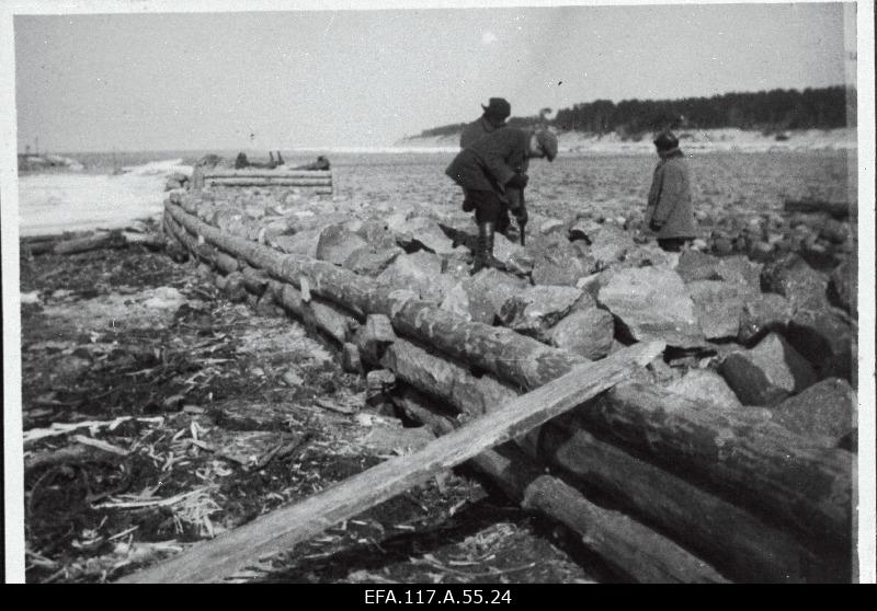
<svg viewBox="0 0 877 611">
<path fill-rule="evenodd" d="M 670 255 L 625 229 L 635 223 L 624 218 L 534 215 L 526 246 L 515 235 L 497 235 L 494 254 L 505 270 L 471 276 L 469 215 L 227 191 L 174 192 L 171 200 L 234 235 L 326 261 L 588 359 L 662 339 L 670 349 L 649 369 L 651 382 L 695 401 L 773 413 L 794 431 L 822 437 L 827 426 L 813 422 L 829 422 L 830 414 L 851 420 L 848 393 L 819 403 L 825 388 L 855 387 L 848 221 L 771 212 L 745 224 L 748 235 L 759 237 L 753 243 L 770 249 L 748 242 L 741 249 L 738 238 L 725 249 L 717 233 L 713 253 Z M 816 261 L 812 247 L 810 254 L 787 249 L 793 238 L 798 245 L 831 244 L 830 256 Z M 238 284 L 224 286 L 237 291 Z M 841 428 L 829 436 L 848 437 L 851 427 Z"/>
</svg>

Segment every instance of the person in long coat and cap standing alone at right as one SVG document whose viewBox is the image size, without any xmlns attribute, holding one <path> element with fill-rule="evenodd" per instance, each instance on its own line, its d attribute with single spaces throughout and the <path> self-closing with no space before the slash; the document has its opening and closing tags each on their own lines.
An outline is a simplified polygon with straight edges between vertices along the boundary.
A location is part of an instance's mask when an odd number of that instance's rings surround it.
<svg viewBox="0 0 877 611">
<path fill-rule="evenodd" d="M 667 252 L 680 252 L 696 237 L 692 208 L 691 171 L 671 131 L 654 138 L 661 160 L 654 168 L 646 207 L 646 222 Z"/>
</svg>

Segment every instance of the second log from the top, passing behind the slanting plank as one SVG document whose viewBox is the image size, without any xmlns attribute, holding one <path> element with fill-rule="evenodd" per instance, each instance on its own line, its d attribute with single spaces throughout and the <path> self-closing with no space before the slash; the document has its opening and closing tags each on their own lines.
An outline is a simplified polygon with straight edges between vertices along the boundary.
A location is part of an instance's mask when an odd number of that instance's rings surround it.
<svg viewBox="0 0 877 611">
<path fill-rule="evenodd" d="M 476 378 L 465 368 L 405 338 L 387 349 L 383 365 L 399 380 L 444 405 L 479 416 L 508 403 L 515 390 L 490 376 Z M 523 438 L 531 457 L 548 460 L 581 481 L 610 494 L 625 508 L 741 581 L 829 580 L 829 567 L 807 573 L 811 558 L 794 537 L 765 524 L 732 502 L 710 494 L 668 471 L 594 438 L 572 417 L 553 420 Z M 545 436 L 544 438 L 542 436 Z"/>
</svg>

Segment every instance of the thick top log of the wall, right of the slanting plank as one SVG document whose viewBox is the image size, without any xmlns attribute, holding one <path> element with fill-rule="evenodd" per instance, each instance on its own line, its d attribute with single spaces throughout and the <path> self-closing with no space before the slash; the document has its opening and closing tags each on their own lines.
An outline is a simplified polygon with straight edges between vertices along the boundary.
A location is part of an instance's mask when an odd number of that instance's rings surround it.
<svg viewBox="0 0 877 611">
<path fill-rule="evenodd" d="M 806 537 L 850 544 L 854 457 L 846 450 L 639 383 L 614 389 L 581 418 L 753 507 L 770 507 Z"/>
</svg>

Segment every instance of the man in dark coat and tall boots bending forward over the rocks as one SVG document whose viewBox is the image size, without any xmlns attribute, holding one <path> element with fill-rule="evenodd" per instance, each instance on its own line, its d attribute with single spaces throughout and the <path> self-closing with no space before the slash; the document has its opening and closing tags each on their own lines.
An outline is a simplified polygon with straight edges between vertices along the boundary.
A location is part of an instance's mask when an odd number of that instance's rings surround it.
<svg viewBox="0 0 877 611">
<path fill-rule="evenodd" d="M 532 158 L 557 157 L 557 137 L 547 129 L 533 131 L 506 127 L 488 134 L 463 149 L 445 170 L 463 187 L 469 209 L 475 209 L 478 223 L 478 245 L 472 273 L 483 267 L 502 268 L 493 257 L 493 238 L 497 222 L 509 204 L 508 189 L 523 189 L 527 185 L 526 170 Z M 527 221 L 523 200 L 511 208 L 519 224 Z"/>
</svg>

